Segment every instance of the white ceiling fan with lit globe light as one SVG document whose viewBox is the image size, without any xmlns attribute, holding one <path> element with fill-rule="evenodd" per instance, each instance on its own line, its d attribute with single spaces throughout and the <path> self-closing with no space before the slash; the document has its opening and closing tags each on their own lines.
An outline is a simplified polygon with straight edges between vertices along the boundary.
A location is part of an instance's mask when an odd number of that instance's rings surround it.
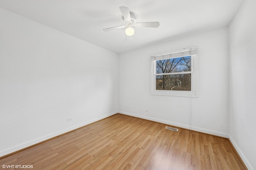
<svg viewBox="0 0 256 170">
<path fill-rule="evenodd" d="M 117 27 L 110 27 L 103 29 L 104 31 L 111 31 L 114 29 L 120 29 L 120 28 L 125 28 L 125 33 L 127 36 L 132 36 L 134 35 L 134 29 L 132 27 L 152 27 L 152 28 L 157 28 L 159 27 L 159 22 L 137 22 L 136 23 L 136 18 L 137 15 L 134 14 L 133 12 L 129 11 L 129 8 L 125 6 L 119 7 L 120 11 L 123 14 L 123 20 L 125 25 L 117 26 Z"/>
</svg>

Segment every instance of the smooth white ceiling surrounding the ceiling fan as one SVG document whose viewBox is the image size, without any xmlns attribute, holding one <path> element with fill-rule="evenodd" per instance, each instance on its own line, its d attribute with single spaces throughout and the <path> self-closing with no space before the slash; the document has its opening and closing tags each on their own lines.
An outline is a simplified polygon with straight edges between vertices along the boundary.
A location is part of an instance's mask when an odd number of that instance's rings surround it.
<svg viewBox="0 0 256 170">
<path fill-rule="evenodd" d="M 228 26 L 244 0 L 0 0 L 0 7 L 116 53 L 176 36 Z M 126 41 L 120 6 L 137 22 L 159 21 L 158 28 L 135 28 Z"/>
</svg>

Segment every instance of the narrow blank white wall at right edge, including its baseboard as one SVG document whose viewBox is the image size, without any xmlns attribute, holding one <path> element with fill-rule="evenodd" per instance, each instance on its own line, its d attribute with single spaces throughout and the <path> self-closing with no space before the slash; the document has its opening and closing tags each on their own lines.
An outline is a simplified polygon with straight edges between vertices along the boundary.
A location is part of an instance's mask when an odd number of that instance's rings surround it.
<svg viewBox="0 0 256 170">
<path fill-rule="evenodd" d="M 230 140 L 256 169 L 256 1 L 246 0 L 230 24 Z"/>
</svg>

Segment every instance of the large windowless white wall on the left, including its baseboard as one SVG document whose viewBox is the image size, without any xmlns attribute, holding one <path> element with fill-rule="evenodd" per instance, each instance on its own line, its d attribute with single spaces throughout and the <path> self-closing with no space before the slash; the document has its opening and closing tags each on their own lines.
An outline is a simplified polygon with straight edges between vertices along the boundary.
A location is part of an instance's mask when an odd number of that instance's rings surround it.
<svg viewBox="0 0 256 170">
<path fill-rule="evenodd" d="M 2 8 L 0 23 L 0 156 L 118 111 L 116 53 Z"/>
</svg>

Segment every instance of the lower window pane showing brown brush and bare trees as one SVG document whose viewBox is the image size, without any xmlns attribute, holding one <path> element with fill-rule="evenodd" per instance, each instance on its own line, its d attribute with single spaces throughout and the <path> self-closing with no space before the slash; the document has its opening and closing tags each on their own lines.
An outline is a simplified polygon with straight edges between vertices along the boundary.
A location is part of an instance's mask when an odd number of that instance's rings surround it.
<svg viewBox="0 0 256 170">
<path fill-rule="evenodd" d="M 191 91 L 191 74 L 157 75 L 156 90 Z"/>
</svg>

